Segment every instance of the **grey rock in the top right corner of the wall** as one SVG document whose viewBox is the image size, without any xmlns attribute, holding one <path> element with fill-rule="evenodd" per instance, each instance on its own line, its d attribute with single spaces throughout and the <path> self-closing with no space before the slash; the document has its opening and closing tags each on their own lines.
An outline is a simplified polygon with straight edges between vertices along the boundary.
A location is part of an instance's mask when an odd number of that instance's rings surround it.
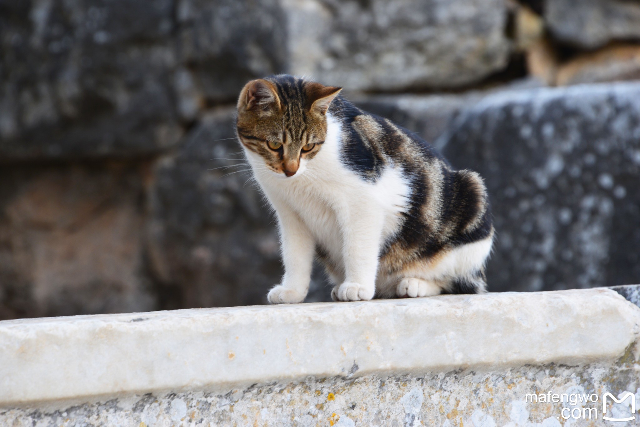
<svg viewBox="0 0 640 427">
<path fill-rule="evenodd" d="M 628 0 L 547 0 L 545 21 L 554 38 L 593 49 L 640 38 L 640 3 Z"/>
</svg>

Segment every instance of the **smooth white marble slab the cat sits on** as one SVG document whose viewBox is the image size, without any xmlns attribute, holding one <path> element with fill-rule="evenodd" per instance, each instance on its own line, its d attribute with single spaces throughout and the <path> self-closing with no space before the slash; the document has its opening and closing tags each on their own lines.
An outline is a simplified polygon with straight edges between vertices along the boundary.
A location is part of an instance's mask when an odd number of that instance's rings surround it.
<svg viewBox="0 0 640 427">
<path fill-rule="evenodd" d="M 0 322 L 0 405 L 309 376 L 612 362 L 640 310 L 610 289 Z"/>
</svg>

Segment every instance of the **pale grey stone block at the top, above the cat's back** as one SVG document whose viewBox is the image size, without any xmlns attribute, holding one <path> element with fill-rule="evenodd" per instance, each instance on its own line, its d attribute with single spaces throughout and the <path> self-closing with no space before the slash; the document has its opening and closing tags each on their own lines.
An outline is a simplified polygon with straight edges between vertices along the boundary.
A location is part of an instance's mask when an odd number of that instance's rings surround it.
<svg viewBox="0 0 640 427">
<path fill-rule="evenodd" d="M 289 70 L 351 90 L 469 85 L 506 67 L 500 0 L 284 0 Z"/>
</svg>

